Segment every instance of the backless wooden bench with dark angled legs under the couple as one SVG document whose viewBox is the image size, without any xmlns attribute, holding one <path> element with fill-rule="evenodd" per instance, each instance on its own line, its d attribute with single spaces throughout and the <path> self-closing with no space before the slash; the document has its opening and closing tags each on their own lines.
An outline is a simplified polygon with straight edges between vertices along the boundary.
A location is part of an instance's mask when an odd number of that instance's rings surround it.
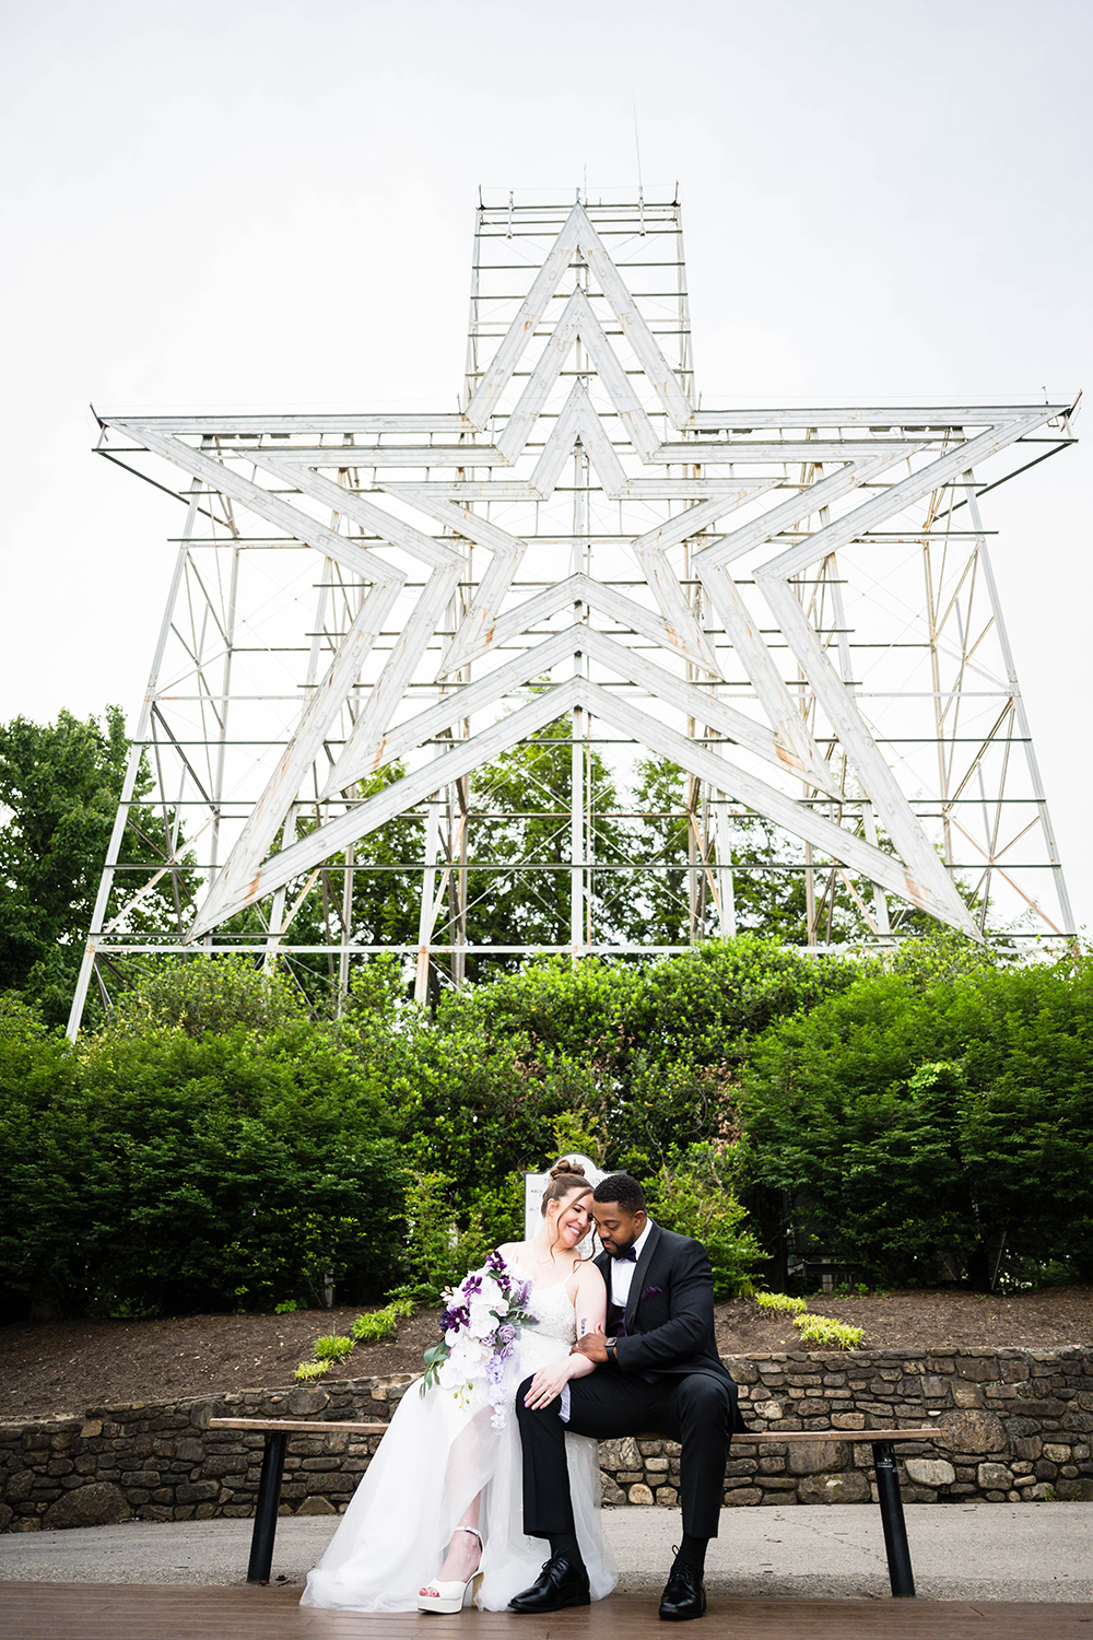
<svg viewBox="0 0 1093 1640">
<path fill-rule="evenodd" d="M 262 1450 L 262 1474 L 254 1509 L 254 1533 L 251 1537 L 251 1563 L 247 1566 L 247 1583 L 269 1583 L 274 1565 L 274 1537 L 277 1533 L 277 1510 L 280 1507 L 280 1483 L 285 1469 L 285 1453 L 290 1435 L 382 1435 L 387 1424 L 334 1424 L 295 1419 L 210 1419 L 211 1430 L 251 1430 L 265 1437 Z M 936 1440 L 937 1430 L 905 1428 L 905 1430 L 749 1430 L 734 1435 L 737 1446 L 772 1446 L 791 1442 L 813 1442 L 816 1445 L 869 1445 L 873 1448 L 873 1468 L 877 1471 L 877 1502 L 880 1504 L 880 1524 L 885 1533 L 885 1555 L 888 1556 L 888 1579 L 893 1596 L 909 1599 L 914 1596 L 914 1574 L 911 1571 L 911 1550 L 908 1545 L 906 1522 L 903 1519 L 903 1499 L 900 1497 L 900 1478 L 893 1445 L 898 1442 Z M 644 1432 L 636 1440 L 665 1440 L 655 1432 Z"/>
</svg>

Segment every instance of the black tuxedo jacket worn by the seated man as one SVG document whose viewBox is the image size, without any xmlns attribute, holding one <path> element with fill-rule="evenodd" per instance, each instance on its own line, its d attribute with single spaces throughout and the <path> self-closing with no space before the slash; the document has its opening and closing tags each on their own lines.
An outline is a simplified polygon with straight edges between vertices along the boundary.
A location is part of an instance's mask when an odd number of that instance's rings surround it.
<svg viewBox="0 0 1093 1640">
<path fill-rule="evenodd" d="M 593 1263 L 610 1299 L 611 1258 L 600 1253 Z M 713 1273 L 701 1241 L 651 1220 L 626 1301 L 626 1337 L 615 1348 L 624 1373 L 729 1378 L 714 1343 Z"/>
</svg>

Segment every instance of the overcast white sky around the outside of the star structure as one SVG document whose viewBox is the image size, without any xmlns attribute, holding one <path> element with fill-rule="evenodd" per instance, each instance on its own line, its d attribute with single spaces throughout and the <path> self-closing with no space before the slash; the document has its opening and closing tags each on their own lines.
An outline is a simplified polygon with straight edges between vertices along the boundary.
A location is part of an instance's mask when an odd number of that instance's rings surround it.
<svg viewBox="0 0 1093 1640">
<path fill-rule="evenodd" d="M 685 207 L 706 405 L 1090 382 L 1088 0 L 0 18 L 3 718 L 144 687 L 182 508 L 92 458 L 88 402 L 456 408 L 478 184 L 634 187 L 633 100 L 646 195 Z M 983 502 L 1086 928 L 1090 476 L 1082 444 Z"/>
</svg>

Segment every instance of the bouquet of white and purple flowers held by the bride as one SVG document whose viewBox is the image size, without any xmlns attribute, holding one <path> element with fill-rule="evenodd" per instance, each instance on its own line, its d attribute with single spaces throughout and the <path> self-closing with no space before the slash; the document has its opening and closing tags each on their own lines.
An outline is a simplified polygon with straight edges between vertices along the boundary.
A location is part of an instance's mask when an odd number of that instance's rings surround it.
<svg viewBox="0 0 1093 1640">
<path fill-rule="evenodd" d="M 444 1337 L 424 1351 L 421 1394 L 439 1384 L 467 1402 L 478 1386 L 493 1407 L 495 1430 L 505 1428 L 505 1364 L 524 1327 L 536 1319 L 526 1309 L 531 1281 L 518 1281 L 500 1253 L 490 1253 L 482 1269 L 472 1269 L 444 1294 Z"/>
</svg>

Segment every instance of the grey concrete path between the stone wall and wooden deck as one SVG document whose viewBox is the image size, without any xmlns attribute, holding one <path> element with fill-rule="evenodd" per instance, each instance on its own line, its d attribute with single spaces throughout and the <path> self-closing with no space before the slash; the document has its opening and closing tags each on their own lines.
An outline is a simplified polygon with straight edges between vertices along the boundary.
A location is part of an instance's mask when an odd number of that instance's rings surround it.
<svg viewBox="0 0 1093 1640">
<path fill-rule="evenodd" d="M 619 1592 L 659 1594 L 678 1515 L 605 1509 Z M 918 1594 L 927 1601 L 1093 1601 L 1093 1504 L 936 1504 L 906 1510 Z M 274 1578 L 303 1583 L 329 1542 L 329 1517 L 283 1519 Z M 131 1522 L 0 1537 L 0 1583 L 236 1584 L 249 1520 Z M 873 1504 L 726 1509 L 710 1548 L 711 1594 L 890 1597 Z"/>
</svg>

